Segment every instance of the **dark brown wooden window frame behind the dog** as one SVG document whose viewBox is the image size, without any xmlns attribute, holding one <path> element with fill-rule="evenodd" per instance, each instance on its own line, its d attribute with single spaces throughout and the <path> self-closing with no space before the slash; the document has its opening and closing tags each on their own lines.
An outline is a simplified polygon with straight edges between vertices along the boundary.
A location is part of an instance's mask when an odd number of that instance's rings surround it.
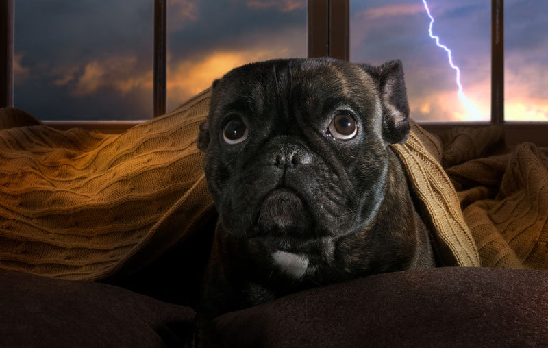
<svg viewBox="0 0 548 348">
<path fill-rule="evenodd" d="M 166 13 L 168 0 L 153 0 L 153 116 L 166 112 Z M 504 121 L 504 2 L 491 0 L 491 119 L 490 122 L 421 122 L 430 132 L 455 125 L 501 125 L 509 145 L 530 141 L 548 146 L 548 123 Z M 308 0 L 308 56 L 349 60 L 349 0 Z M 0 1 L 0 107 L 13 105 L 14 0 Z M 142 121 L 44 121 L 59 129 L 85 127 L 119 133 Z"/>
</svg>

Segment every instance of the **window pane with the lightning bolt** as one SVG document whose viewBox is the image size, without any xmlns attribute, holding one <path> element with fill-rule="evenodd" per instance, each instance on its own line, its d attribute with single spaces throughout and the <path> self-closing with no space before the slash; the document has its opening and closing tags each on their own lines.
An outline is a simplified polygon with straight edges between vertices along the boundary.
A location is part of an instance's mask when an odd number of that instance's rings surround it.
<svg viewBox="0 0 548 348">
<path fill-rule="evenodd" d="M 382 64 L 399 59 L 406 73 L 411 116 L 416 121 L 490 119 L 490 1 L 351 0 L 350 59 Z"/>
</svg>

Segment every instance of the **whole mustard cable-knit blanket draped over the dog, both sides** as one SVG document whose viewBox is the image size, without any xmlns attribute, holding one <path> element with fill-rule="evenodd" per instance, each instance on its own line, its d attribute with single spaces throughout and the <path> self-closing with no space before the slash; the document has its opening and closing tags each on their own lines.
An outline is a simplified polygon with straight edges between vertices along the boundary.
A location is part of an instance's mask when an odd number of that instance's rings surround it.
<svg viewBox="0 0 548 348">
<path fill-rule="evenodd" d="M 210 90 L 101 134 L 0 109 L 0 268 L 62 279 L 129 275 L 189 240 L 214 207 L 196 147 Z M 497 127 L 393 145 L 442 265 L 548 268 L 548 158 Z"/>
</svg>

